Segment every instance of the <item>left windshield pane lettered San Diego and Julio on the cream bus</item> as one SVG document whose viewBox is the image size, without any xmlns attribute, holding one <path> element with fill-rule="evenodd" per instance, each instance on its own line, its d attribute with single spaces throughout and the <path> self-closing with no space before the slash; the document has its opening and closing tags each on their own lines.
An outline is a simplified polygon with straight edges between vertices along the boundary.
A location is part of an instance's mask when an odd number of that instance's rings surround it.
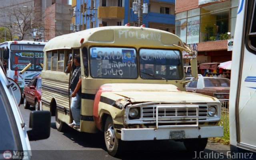
<svg viewBox="0 0 256 160">
<path fill-rule="evenodd" d="M 90 74 L 93 78 L 135 79 L 137 70 L 134 48 L 90 48 Z"/>
</svg>

